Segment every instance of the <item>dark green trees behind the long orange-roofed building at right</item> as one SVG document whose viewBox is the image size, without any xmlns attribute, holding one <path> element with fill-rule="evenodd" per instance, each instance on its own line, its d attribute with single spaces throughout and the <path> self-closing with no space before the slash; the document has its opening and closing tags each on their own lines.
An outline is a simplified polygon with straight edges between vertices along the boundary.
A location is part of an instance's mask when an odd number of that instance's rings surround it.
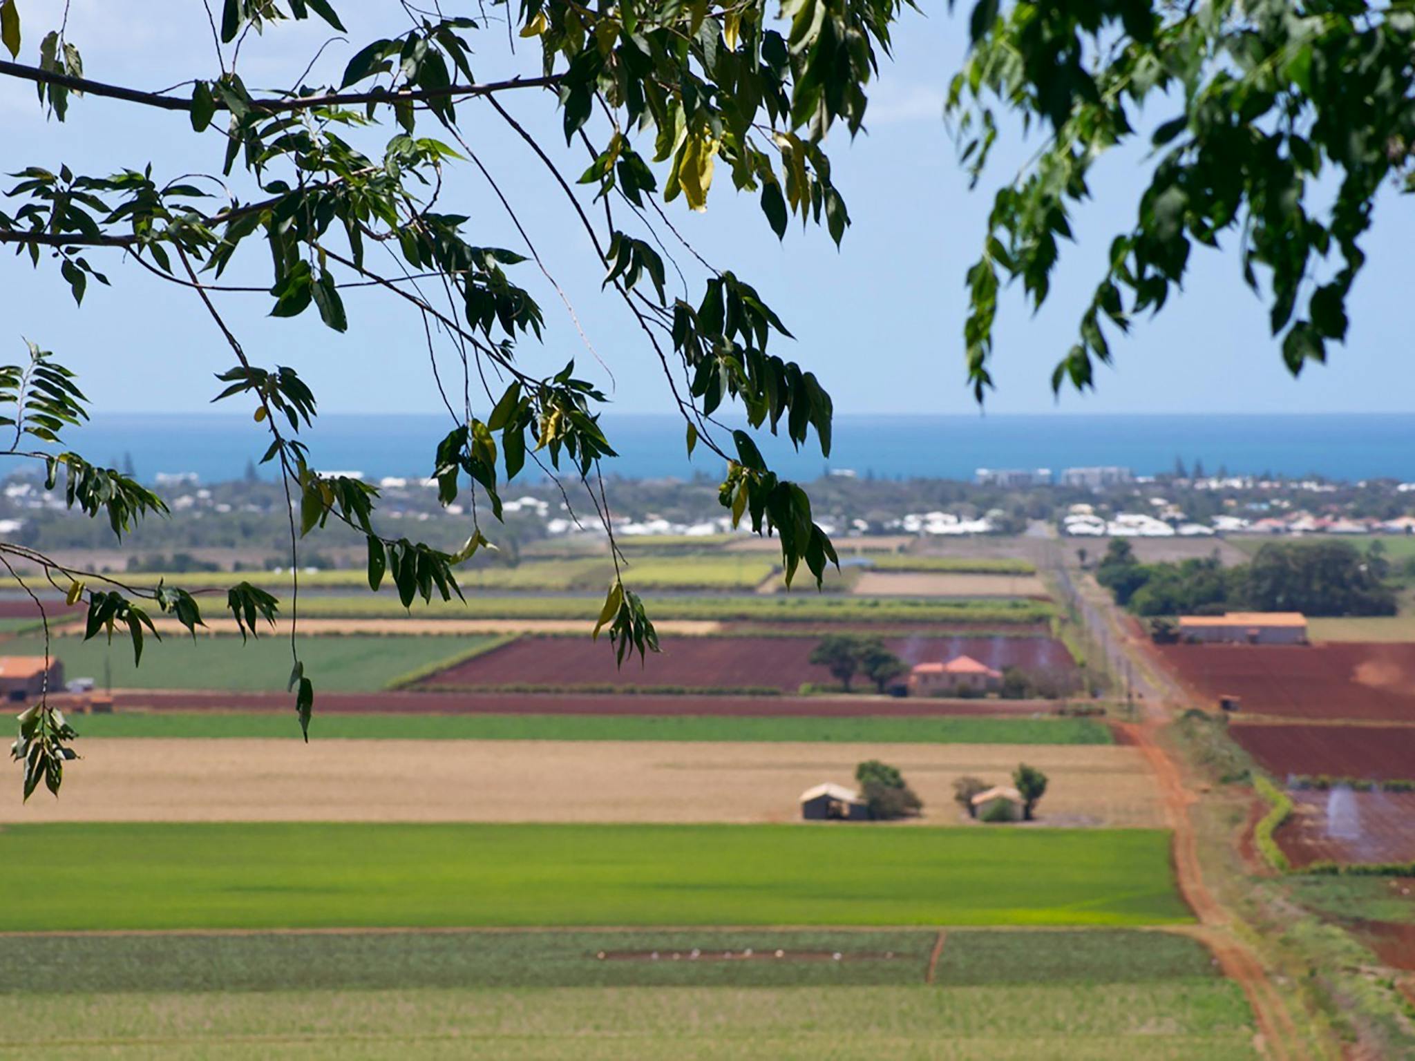
<svg viewBox="0 0 1415 1061">
<path fill-rule="evenodd" d="M 1125 539 L 1111 542 L 1095 577 L 1136 615 L 1300 611 L 1307 615 L 1394 615 L 1380 542 L 1363 553 L 1350 542 L 1268 543 L 1251 563 L 1218 556 L 1140 563 Z"/>
</svg>

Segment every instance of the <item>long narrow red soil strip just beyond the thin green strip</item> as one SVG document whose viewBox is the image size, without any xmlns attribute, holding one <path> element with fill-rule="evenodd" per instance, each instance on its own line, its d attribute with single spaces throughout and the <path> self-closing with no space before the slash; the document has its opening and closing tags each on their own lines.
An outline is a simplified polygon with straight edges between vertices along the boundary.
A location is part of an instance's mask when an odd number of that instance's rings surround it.
<svg viewBox="0 0 1415 1061">
<path fill-rule="evenodd" d="M 279 712 L 286 693 L 115 690 L 116 710 Z M 927 717 L 948 714 L 1053 714 L 1056 700 L 941 700 L 857 696 L 674 696 L 666 693 L 320 693 L 317 712 L 330 714 L 719 714 L 816 717 Z"/>
</svg>

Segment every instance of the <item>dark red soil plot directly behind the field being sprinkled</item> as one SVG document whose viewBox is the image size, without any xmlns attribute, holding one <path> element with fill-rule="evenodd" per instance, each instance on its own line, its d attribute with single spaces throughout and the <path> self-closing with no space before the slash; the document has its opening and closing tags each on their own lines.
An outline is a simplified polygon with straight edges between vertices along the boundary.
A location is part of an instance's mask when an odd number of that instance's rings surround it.
<svg viewBox="0 0 1415 1061">
<path fill-rule="evenodd" d="M 1290 774 L 1415 779 L 1415 727 L 1254 723 L 1230 726 L 1228 736 L 1279 779 Z"/>
</svg>

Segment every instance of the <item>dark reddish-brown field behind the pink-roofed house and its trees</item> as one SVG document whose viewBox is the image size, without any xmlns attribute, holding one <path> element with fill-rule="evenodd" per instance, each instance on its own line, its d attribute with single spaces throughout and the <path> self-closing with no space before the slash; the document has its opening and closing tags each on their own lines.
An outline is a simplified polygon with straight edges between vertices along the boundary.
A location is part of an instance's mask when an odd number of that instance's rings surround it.
<svg viewBox="0 0 1415 1061">
<path fill-rule="evenodd" d="M 1070 673 L 1075 663 L 1054 638 L 908 637 L 884 644 L 906 663 L 945 662 L 968 655 L 988 666 Z M 665 638 L 662 655 L 616 669 L 613 656 L 589 638 L 525 637 L 423 679 L 423 688 L 505 685 L 617 686 L 685 689 L 781 689 L 835 679 L 809 661 L 815 638 Z M 857 679 L 860 688 L 869 682 Z"/>
</svg>

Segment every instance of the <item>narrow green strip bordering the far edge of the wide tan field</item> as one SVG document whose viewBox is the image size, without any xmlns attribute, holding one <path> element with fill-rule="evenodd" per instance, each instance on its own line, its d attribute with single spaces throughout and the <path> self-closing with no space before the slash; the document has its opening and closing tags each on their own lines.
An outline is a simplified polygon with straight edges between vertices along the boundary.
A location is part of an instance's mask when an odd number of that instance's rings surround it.
<svg viewBox="0 0 1415 1061">
<path fill-rule="evenodd" d="M 289 737 L 287 714 L 151 712 L 72 720 L 85 737 Z M 1112 744 L 1094 719 L 706 714 L 320 714 L 321 740 L 682 740 L 856 744 Z"/>
</svg>

